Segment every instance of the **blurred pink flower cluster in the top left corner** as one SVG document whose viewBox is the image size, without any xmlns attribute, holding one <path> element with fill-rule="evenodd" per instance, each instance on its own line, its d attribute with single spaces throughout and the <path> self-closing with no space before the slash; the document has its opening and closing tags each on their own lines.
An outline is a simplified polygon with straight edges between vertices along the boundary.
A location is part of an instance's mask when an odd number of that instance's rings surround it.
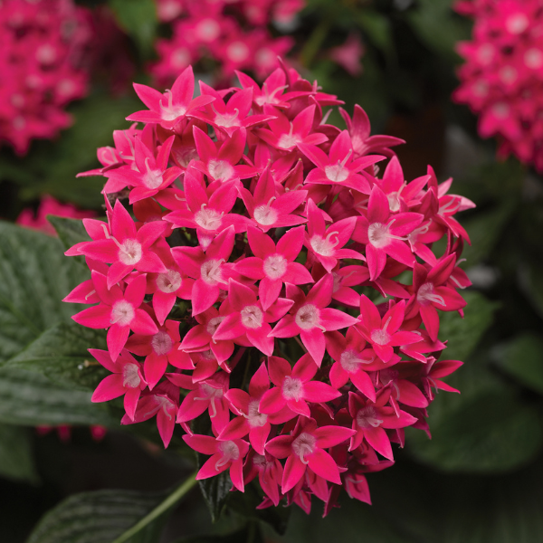
<svg viewBox="0 0 543 543">
<path fill-rule="evenodd" d="M 64 107 L 85 96 L 81 56 L 88 11 L 71 0 L 5 0 L 0 6 L 0 141 L 24 155 L 33 138 L 71 124 Z"/>
</svg>

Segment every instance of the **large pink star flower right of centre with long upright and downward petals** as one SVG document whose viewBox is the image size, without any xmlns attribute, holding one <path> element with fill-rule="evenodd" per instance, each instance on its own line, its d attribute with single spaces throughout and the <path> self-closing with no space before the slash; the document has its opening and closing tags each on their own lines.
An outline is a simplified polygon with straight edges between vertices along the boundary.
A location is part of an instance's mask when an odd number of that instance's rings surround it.
<svg viewBox="0 0 543 543">
<path fill-rule="evenodd" d="M 423 221 L 417 213 L 398 213 L 391 217 L 388 198 L 374 186 L 367 205 L 367 217 L 357 219 L 353 239 L 366 245 L 366 260 L 370 280 L 374 281 L 385 269 L 386 255 L 412 268 L 414 255 L 404 243 L 407 235 Z"/>
</svg>

